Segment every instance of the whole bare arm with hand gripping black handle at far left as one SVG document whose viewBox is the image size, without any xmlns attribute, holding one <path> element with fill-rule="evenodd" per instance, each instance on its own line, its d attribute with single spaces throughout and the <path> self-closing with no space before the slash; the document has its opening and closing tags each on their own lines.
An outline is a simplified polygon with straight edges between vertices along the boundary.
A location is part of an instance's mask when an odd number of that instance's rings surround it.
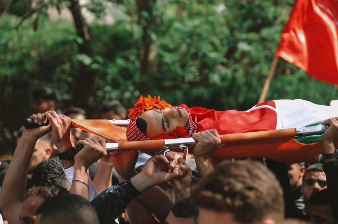
<svg viewBox="0 0 338 224">
<path fill-rule="evenodd" d="M 35 123 L 46 123 L 43 114 L 30 116 Z M 8 166 L 0 196 L 0 208 L 9 223 L 21 223 L 19 213 L 26 198 L 27 170 L 35 143 L 51 131 L 51 126 L 25 129 Z"/>
</svg>

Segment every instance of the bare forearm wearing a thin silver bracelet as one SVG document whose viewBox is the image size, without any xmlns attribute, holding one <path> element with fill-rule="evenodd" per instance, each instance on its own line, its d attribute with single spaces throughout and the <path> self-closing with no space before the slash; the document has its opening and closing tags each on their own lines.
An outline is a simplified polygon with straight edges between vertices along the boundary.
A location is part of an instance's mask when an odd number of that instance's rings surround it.
<svg viewBox="0 0 338 224">
<path fill-rule="evenodd" d="M 84 181 L 84 183 L 78 180 L 82 180 Z M 81 195 L 82 197 L 89 200 L 89 185 L 88 185 L 87 168 L 84 167 L 82 164 L 78 164 L 76 162 L 74 164 L 74 175 L 73 175 L 72 186 L 70 188 L 70 193 Z"/>
</svg>

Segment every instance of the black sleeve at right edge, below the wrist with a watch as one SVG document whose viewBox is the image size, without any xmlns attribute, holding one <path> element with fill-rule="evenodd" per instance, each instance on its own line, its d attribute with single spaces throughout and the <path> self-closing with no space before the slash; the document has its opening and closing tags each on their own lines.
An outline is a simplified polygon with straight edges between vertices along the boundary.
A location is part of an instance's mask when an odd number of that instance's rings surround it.
<svg viewBox="0 0 338 224">
<path fill-rule="evenodd" d="M 338 160 L 325 163 L 323 170 L 328 183 L 332 214 L 335 221 L 338 221 Z"/>
</svg>

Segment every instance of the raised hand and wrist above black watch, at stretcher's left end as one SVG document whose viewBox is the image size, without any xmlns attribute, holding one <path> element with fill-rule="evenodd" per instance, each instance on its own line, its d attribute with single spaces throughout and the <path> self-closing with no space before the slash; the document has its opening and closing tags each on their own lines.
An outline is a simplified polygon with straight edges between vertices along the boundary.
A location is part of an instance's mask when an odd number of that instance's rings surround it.
<svg viewBox="0 0 338 224">
<path fill-rule="evenodd" d="M 52 126 L 53 142 L 59 153 L 67 151 L 67 149 L 72 147 L 70 141 L 70 117 L 57 114 L 55 111 L 47 111 L 45 116 Z"/>
</svg>

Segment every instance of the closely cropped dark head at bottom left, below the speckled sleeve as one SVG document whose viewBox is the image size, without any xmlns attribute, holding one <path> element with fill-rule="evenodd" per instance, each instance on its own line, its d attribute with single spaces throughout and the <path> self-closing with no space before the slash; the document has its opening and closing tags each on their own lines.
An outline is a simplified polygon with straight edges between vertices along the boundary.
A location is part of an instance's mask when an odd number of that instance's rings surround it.
<svg viewBox="0 0 338 224">
<path fill-rule="evenodd" d="M 98 224 L 94 207 L 82 196 L 62 194 L 47 199 L 37 210 L 35 224 Z"/>
</svg>

